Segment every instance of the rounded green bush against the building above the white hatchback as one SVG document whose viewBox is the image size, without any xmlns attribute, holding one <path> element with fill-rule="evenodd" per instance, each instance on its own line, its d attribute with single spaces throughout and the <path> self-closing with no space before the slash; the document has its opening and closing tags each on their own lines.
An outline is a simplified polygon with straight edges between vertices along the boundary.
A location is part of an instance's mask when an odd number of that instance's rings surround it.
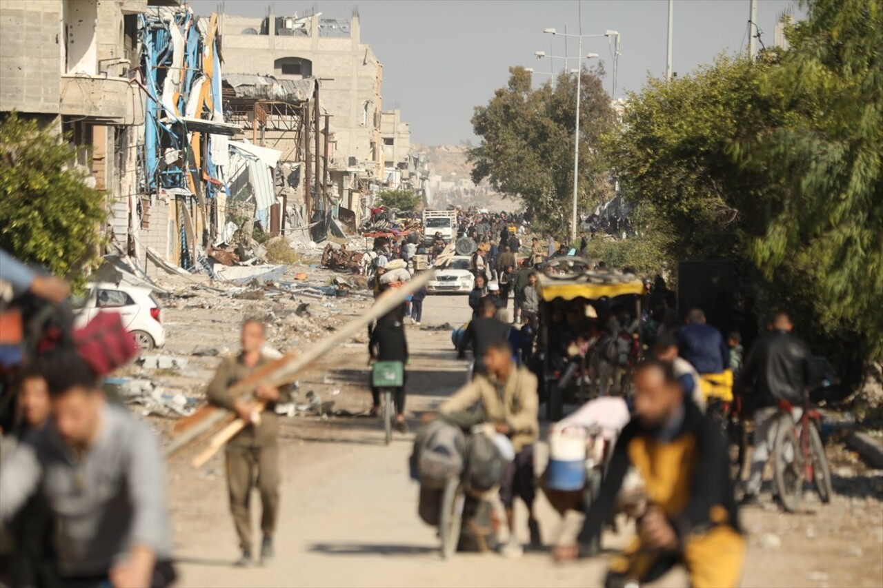
<svg viewBox="0 0 883 588">
<path fill-rule="evenodd" d="M 0 123 L 0 247 L 81 281 L 106 213 L 102 193 L 83 183 L 87 174 L 72 160 L 64 140 L 33 120 L 13 112 Z"/>
</svg>

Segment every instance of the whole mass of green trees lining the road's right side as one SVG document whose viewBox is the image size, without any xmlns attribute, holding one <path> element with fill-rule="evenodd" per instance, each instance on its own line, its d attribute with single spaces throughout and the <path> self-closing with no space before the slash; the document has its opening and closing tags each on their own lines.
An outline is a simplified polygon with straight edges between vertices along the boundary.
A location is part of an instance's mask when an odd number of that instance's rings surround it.
<svg viewBox="0 0 883 588">
<path fill-rule="evenodd" d="M 842 366 L 883 358 L 883 5 L 805 4 L 787 51 L 651 79 L 605 147 L 668 260 L 750 265 Z"/>
</svg>

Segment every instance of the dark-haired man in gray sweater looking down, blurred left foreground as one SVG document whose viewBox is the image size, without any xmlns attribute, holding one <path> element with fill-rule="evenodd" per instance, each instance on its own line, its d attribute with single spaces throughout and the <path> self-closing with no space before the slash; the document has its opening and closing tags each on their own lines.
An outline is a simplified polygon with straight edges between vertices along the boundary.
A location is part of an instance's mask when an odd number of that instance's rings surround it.
<svg viewBox="0 0 883 588">
<path fill-rule="evenodd" d="M 125 408 L 105 403 L 72 352 L 43 362 L 52 422 L 0 467 L 0 524 L 42 490 L 57 520 L 64 585 L 163 586 L 175 577 L 159 441 Z"/>
</svg>

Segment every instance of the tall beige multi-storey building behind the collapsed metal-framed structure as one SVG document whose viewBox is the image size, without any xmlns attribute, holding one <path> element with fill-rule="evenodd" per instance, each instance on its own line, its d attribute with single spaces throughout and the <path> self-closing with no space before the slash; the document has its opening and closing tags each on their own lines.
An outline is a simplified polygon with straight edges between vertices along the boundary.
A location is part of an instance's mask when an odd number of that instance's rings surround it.
<svg viewBox="0 0 883 588">
<path fill-rule="evenodd" d="M 313 157 L 321 157 L 323 166 L 316 173 L 313 162 L 307 196 L 321 207 L 328 195 L 332 215 L 343 207 L 362 218 L 370 193 L 386 180 L 387 165 L 381 133 L 383 65 L 371 46 L 361 41 L 358 12 L 344 20 L 322 18 L 321 13 L 278 16 L 270 9 L 263 18 L 223 14 L 219 22 L 226 72 L 279 82 L 319 80 L 319 134 L 322 144 L 328 141 L 328 151 L 313 147 Z M 310 116 L 315 119 L 314 112 Z M 396 124 L 407 127 L 400 121 Z M 309 132 L 316 139 L 315 127 Z M 394 168 L 406 158 L 404 143 L 410 142 L 410 134 L 402 142 L 404 152 L 397 155 Z M 302 147 L 298 160 L 288 155 L 291 149 L 283 142 L 275 148 L 283 151 L 283 166 L 289 163 L 292 168 L 295 162 L 306 162 L 310 150 Z"/>
</svg>

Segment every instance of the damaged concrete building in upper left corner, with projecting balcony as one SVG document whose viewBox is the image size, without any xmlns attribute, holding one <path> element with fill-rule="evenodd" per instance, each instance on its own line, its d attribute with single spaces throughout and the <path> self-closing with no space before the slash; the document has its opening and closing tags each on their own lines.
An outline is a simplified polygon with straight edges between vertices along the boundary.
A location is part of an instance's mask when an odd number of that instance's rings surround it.
<svg viewBox="0 0 883 588">
<path fill-rule="evenodd" d="M 69 133 L 76 163 L 107 196 L 117 243 L 131 248 L 140 207 L 138 130 L 146 94 L 139 16 L 157 0 L 0 2 L 0 116 L 12 110 Z"/>
</svg>

